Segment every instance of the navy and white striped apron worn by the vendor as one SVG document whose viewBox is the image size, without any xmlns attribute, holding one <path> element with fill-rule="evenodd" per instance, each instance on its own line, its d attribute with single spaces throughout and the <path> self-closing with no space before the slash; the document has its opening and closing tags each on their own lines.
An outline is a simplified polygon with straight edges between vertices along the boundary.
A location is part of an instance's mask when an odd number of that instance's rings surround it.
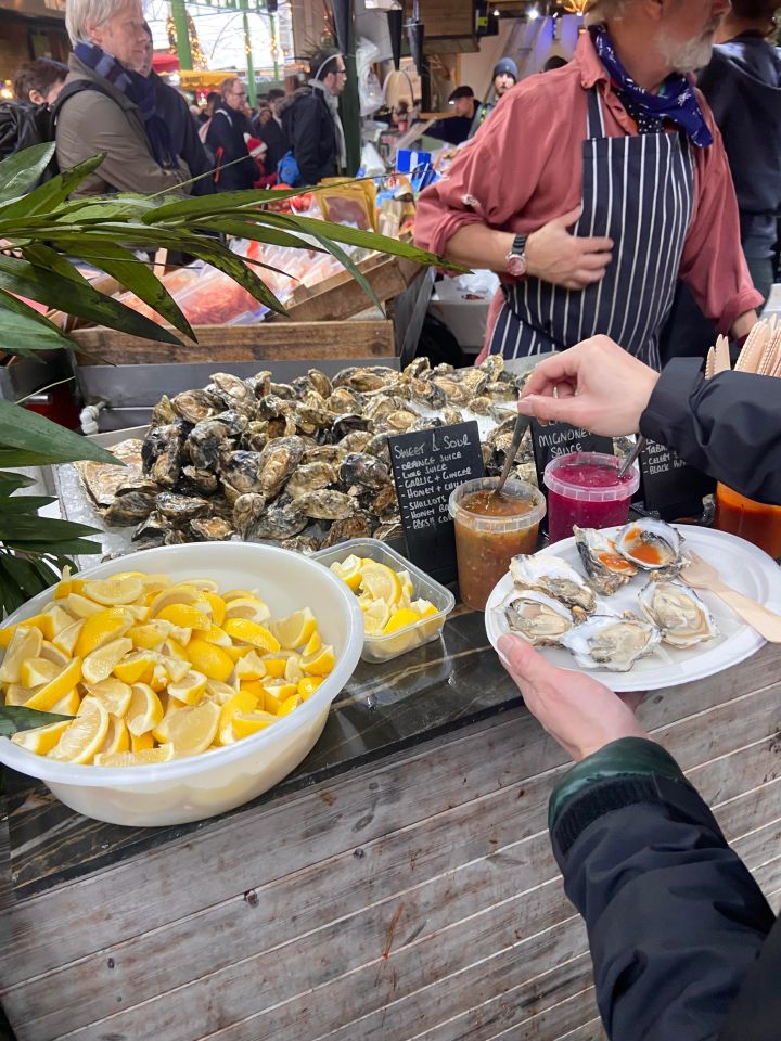
<svg viewBox="0 0 781 1041">
<path fill-rule="evenodd" d="M 535 278 L 503 286 L 490 354 L 564 350 L 603 333 L 658 369 L 658 334 L 692 216 L 694 157 L 682 132 L 606 137 L 600 94 L 588 95 L 584 209 L 573 234 L 612 239 L 613 259 L 604 278 L 585 290 Z"/>
</svg>

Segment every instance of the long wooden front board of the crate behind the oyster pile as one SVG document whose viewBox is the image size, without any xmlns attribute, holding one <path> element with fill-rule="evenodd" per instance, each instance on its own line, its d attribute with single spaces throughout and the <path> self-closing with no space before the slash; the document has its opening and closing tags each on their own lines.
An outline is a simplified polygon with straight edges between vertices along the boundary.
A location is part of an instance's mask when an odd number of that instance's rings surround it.
<svg viewBox="0 0 781 1041">
<path fill-rule="evenodd" d="M 197 343 L 182 337 L 182 346 L 158 344 L 104 326 L 81 329 L 73 338 L 93 357 L 77 355 L 82 367 L 101 363 L 273 361 L 330 358 L 389 358 L 394 329 L 389 320 L 259 322 L 257 325 L 202 325 Z M 78 347 L 77 347 L 78 350 Z"/>
</svg>

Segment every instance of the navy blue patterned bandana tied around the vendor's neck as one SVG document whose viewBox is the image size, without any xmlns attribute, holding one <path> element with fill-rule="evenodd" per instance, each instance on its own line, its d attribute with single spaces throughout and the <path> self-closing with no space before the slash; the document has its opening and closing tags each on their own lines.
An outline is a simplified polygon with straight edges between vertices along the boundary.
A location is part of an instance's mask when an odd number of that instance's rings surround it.
<svg viewBox="0 0 781 1041">
<path fill-rule="evenodd" d="M 599 59 L 610 74 L 620 103 L 638 125 L 640 133 L 661 133 L 665 119 L 677 124 L 699 149 L 713 144 L 713 134 L 694 94 L 694 88 L 684 76 L 668 76 L 664 93 L 652 94 L 638 87 L 624 68 L 604 25 L 589 28 Z"/>
</svg>

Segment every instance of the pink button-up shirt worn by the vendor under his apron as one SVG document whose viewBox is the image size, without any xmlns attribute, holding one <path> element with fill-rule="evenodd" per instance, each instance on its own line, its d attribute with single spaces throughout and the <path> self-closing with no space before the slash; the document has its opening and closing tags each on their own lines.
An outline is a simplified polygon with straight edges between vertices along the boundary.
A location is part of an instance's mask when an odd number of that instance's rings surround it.
<svg viewBox="0 0 781 1041">
<path fill-rule="evenodd" d="M 582 191 L 586 91 L 596 83 L 602 91 L 605 134 L 637 134 L 635 120 L 584 33 L 567 66 L 513 87 L 448 176 L 421 194 L 417 244 L 441 255 L 465 224 L 528 235 L 575 209 Z M 699 100 L 714 143 L 708 149 L 692 146 L 694 208 L 679 274 L 703 312 L 727 333 L 739 316 L 761 304 L 761 296 L 752 284 L 740 244 L 738 203 L 721 134 L 701 93 Z"/>
</svg>

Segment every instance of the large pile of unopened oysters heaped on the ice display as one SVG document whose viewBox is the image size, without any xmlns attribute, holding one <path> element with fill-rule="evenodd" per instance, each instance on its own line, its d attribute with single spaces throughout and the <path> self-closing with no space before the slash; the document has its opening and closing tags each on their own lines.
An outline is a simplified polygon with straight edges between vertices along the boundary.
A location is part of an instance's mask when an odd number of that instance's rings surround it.
<svg viewBox="0 0 781 1041">
<path fill-rule="evenodd" d="M 203 389 L 163 397 L 149 434 L 112 451 L 125 466 L 77 464 L 107 526 L 135 526 L 139 548 L 243 539 L 305 553 L 351 538 L 392 539 L 400 516 L 388 436 L 485 416 L 486 472 L 498 474 L 527 374 L 501 357 L 481 365 L 402 371 L 318 369 L 291 383 L 225 372 Z M 515 476 L 528 479 L 528 448 Z"/>
</svg>

